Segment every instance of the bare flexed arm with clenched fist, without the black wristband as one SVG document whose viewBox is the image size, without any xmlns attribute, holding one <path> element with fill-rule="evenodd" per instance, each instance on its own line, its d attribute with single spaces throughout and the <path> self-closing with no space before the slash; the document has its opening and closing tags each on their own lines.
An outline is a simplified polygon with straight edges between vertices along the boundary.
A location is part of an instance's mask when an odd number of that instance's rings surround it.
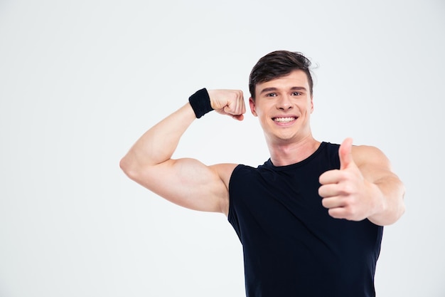
<svg viewBox="0 0 445 297">
<path fill-rule="evenodd" d="M 209 90 L 212 107 L 221 114 L 243 119 L 240 90 Z M 228 214 L 228 183 L 235 164 L 206 166 L 198 160 L 171 156 L 186 129 L 195 120 L 187 103 L 151 127 L 122 158 L 122 170 L 135 182 L 169 201 L 203 212 Z"/>
</svg>

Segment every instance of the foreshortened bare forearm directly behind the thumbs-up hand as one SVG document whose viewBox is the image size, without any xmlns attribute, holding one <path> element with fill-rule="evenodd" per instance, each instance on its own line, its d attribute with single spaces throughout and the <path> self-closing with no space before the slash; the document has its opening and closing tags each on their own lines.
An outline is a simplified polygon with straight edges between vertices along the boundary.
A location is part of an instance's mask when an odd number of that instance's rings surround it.
<svg viewBox="0 0 445 297">
<path fill-rule="evenodd" d="M 398 177 L 386 177 L 373 183 L 377 201 L 377 212 L 368 219 L 385 226 L 397 222 L 404 213 L 404 185 Z"/>
</svg>

